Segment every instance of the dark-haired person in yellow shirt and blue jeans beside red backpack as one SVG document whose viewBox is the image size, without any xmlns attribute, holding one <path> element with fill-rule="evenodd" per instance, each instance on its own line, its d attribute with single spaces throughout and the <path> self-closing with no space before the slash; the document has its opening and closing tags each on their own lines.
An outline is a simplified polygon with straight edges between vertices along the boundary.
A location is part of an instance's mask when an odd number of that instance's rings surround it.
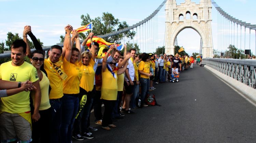
<svg viewBox="0 0 256 143">
<path fill-rule="evenodd" d="M 150 55 L 142 53 L 141 62 L 139 63 L 138 71 L 140 73 L 140 84 L 141 84 L 141 105 L 148 106 L 145 104 L 145 96 L 149 92 L 150 88 Z"/>
</svg>

